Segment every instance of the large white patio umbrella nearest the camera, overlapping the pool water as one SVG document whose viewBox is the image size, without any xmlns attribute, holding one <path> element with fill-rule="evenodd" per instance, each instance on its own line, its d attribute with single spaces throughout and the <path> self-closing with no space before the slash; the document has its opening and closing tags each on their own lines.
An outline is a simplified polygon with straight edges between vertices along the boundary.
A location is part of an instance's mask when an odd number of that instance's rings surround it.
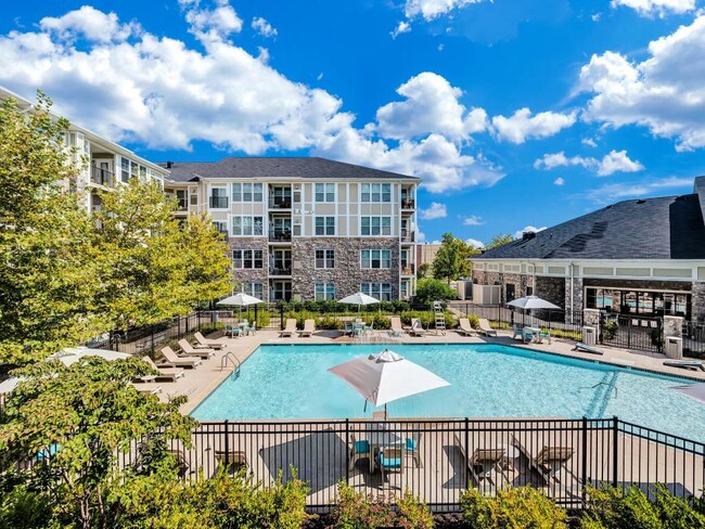
<svg viewBox="0 0 705 529">
<path fill-rule="evenodd" d="M 389 349 L 358 357 L 328 371 L 352 386 L 374 407 L 384 404 L 385 411 L 387 403 L 394 400 L 450 386 L 438 375 Z"/>
</svg>

